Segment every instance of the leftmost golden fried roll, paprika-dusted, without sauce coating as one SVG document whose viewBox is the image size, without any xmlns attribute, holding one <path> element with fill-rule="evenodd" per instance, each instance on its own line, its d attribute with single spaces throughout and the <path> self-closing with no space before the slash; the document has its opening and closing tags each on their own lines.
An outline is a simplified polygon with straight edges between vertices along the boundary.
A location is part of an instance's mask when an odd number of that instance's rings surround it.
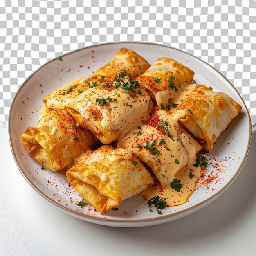
<svg viewBox="0 0 256 256">
<path fill-rule="evenodd" d="M 73 164 L 79 154 L 90 150 L 98 140 L 77 126 L 66 109 L 55 109 L 29 126 L 21 135 L 27 153 L 46 168 L 57 171 Z"/>
</svg>

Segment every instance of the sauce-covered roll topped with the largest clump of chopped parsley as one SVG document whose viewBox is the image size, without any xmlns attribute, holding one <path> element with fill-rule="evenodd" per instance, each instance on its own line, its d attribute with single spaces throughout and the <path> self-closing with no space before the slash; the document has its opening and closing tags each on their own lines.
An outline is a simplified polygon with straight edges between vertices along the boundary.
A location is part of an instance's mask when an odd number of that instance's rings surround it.
<svg viewBox="0 0 256 256">
<path fill-rule="evenodd" d="M 153 103 L 124 71 L 83 92 L 67 109 L 79 126 L 90 130 L 103 144 L 109 144 L 133 124 L 146 119 Z"/>
</svg>

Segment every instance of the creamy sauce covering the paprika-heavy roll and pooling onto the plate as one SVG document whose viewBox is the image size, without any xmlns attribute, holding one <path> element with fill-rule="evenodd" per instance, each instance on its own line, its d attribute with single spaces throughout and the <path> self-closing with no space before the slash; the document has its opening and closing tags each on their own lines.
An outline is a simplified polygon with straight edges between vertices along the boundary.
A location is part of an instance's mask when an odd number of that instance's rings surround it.
<svg viewBox="0 0 256 256">
<path fill-rule="evenodd" d="M 186 110 L 167 112 L 158 109 L 151 115 L 151 117 L 154 116 L 153 119 L 137 124 L 117 142 L 120 150 L 118 155 L 128 148 L 131 154 L 138 155 L 141 162 L 150 167 L 159 180 L 162 189 L 153 185 L 141 193 L 148 200 L 159 195 L 166 198 L 169 206 L 184 204 L 195 190 L 200 168 L 193 164 L 200 148 L 188 134 L 180 131 L 178 120 L 185 115 L 185 112 Z M 166 126 L 167 123 L 168 126 Z M 147 147 L 148 143 L 151 144 L 150 149 Z M 174 179 L 180 180 L 183 185 L 180 192 L 170 186 Z"/>
</svg>

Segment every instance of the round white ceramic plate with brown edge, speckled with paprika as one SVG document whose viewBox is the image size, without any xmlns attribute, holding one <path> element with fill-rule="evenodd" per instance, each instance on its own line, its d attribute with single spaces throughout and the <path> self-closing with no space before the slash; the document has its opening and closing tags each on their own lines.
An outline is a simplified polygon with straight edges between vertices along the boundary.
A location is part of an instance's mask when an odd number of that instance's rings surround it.
<svg viewBox="0 0 256 256">
<path fill-rule="evenodd" d="M 64 83 L 80 76 L 91 76 L 99 67 L 126 47 L 143 56 L 150 64 L 157 58 L 174 58 L 195 72 L 197 83 L 229 94 L 243 107 L 207 155 L 207 173 L 195 192 L 180 206 L 168 207 L 159 215 L 149 211 L 146 201 L 135 196 L 122 202 L 118 210 L 100 213 L 93 207 L 79 207 L 80 196 L 68 184 L 63 171 L 42 170 L 28 156 L 20 135 L 28 126 L 35 126 L 43 107 L 42 97 Z M 9 118 L 9 137 L 14 159 L 27 182 L 45 199 L 66 213 L 82 220 L 113 227 L 142 227 L 169 222 L 193 213 L 215 200 L 234 181 L 241 170 L 252 135 L 251 120 L 243 99 L 217 70 L 194 56 L 171 47 L 150 43 L 110 43 L 91 46 L 49 61 L 32 74 L 13 99 Z"/>
</svg>

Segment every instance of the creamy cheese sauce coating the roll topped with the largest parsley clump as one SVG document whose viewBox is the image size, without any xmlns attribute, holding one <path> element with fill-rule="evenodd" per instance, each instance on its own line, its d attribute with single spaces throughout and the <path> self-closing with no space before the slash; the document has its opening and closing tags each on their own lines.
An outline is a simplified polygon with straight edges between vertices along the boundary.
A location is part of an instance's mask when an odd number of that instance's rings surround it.
<svg viewBox="0 0 256 256">
<path fill-rule="evenodd" d="M 87 120 L 94 121 L 93 116 L 101 118 L 100 124 L 104 130 L 126 131 L 148 117 L 150 104 L 150 96 L 142 89 L 124 93 L 121 88 L 101 86 L 90 88 L 81 94 L 77 98 L 76 108 Z"/>
</svg>

